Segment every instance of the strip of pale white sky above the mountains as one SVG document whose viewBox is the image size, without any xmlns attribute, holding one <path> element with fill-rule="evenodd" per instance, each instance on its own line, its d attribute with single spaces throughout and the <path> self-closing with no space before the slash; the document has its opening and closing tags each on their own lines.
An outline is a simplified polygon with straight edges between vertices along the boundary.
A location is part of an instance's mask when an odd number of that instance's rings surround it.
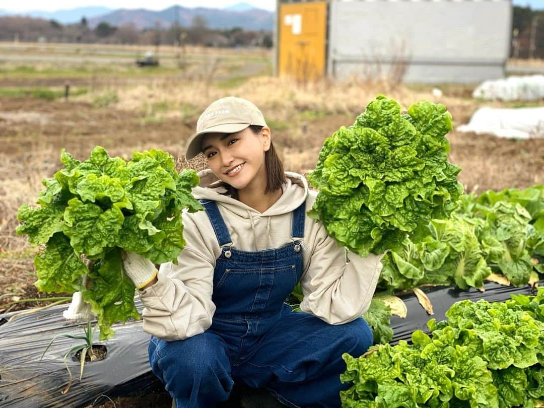
<svg viewBox="0 0 544 408">
<path fill-rule="evenodd" d="M 249 3 L 255 7 L 274 10 L 275 0 L 182 0 L 176 2 L 175 0 L 18 0 L 16 2 L 4 2 L 0 1 L 0 9 L 9 11 L 30 11 L 30 10 L 43 10 L 43 11 L 57 11 L 75 9 L 78 7 L 89 6 L 103 6 L 110 9 L 131 8 L 138 9 L 144 8 L 148 10 L 164 10 L 174 4 L 182 5 L 183 7 L 206 7 L 206 8 L 224 8 L 232 4 Z M 130 7 L 127 5 L 130 4 Z"/>
</svg>

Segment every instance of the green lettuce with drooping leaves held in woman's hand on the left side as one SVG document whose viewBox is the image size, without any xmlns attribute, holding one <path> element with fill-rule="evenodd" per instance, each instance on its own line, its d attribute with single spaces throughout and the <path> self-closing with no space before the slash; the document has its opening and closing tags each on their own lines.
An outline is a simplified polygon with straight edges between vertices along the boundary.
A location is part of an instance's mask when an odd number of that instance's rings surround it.
<svg viewBox="0 0 544 408">
<path fill-rule="evenodd" d="M 65 168 L 42 181 L 38 206 L 20 207 L 16 231 L 43 246 L 34 258 L 36 287 L 81 291 L 100 339 L 107 339 L 115 322 L 139 318 L 122 251 L 176 263 L 185 245 L 182 211 L 202 209 L 191 195 L 199 177 L 194 170 L 178 174 L 172 156 L 160 150 L 134 152 L 126 162 L 97 146 L 83 162 L 63 151 L 61 162 Z"/>
</svg>

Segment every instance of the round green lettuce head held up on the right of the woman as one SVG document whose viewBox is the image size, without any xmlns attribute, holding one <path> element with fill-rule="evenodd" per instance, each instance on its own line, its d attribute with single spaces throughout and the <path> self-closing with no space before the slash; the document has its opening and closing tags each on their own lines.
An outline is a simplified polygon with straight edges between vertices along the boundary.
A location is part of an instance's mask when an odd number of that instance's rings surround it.
<svg viewBox="0 0 544 408">
<path fill-rule="evenodd" d="M 442 104 L 418 102 L 402 114 L 396 101 L 378 96 L 325 140 L 308 176 L 319 190 L 308 215 L 361 256 L 399 248 L 405 237 L 419 242 L 462 194 L 460 168 L 447 161 L 450 130 Z"/>
</svg>

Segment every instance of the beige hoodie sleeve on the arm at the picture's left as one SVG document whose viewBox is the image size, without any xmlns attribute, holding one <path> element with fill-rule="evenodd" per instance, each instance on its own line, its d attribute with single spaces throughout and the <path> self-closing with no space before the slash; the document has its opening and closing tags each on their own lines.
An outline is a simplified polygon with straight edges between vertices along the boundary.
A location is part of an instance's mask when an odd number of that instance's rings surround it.
<svg viewBox="0 0 544 408">
<path fill-rule="evenodd" d="M 174 341 L 203 333 L 212 324 L 215 257 L 206 248 L 195 221 L 183 217 L 186 246 L 172 262 L 160 265 L 158 281 L 140 291 L 144 331 Z"/>
</svg>

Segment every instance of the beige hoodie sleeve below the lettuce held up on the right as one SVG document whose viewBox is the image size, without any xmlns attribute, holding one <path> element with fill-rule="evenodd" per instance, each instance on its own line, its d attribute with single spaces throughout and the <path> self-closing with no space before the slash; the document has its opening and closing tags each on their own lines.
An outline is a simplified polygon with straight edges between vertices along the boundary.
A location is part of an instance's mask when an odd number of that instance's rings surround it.
<svg viewBox="0 0 544 408">
<path fill-rule="evenodd" d="M 313 251 L 302 275 L 300 309 L 329 324 L 344 324 L 368 310 L 378 284 L 383 255 L 360 257 L 339 247 L 324 225 L 318 228 Z"/>
</svg>

